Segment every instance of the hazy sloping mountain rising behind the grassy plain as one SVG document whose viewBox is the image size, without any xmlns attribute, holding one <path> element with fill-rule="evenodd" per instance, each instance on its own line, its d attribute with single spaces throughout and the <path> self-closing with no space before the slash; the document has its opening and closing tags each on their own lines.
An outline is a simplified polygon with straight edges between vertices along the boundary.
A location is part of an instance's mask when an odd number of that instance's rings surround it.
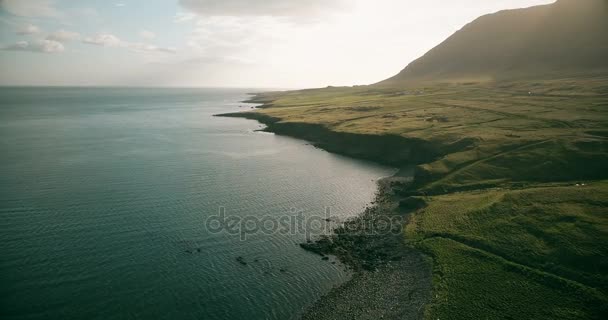
<svg viewBox="0 0 608 320">
<path fill-rule="evenodd" d="M 469 23 L 381 85 L 608 70 L 608 0 L 558 0 Z"/>
</svg>

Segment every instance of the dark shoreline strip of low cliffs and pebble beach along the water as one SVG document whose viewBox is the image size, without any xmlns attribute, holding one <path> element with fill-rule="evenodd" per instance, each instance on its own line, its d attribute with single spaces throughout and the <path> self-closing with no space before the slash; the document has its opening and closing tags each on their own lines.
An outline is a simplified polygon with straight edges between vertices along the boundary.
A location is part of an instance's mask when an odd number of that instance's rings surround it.
<svg viewBox="0 0 608 320">
<path fill-rule="evenodd" d="M 254 97 L 244 102 L 262 101 L 256 101 Z M 256 109 L 263 109 L 264 106 Z M 423 318 L 424 306 L 431 301 L 432 262 L 423 252 L 408 246 L 402 232 L 410 214 L 421 205 L 412 205 L 411 201 L 407 201 L 410 198 L 403 196 L 403 190 L 412 186 L 416 177 L 412 175 L 411 179 L 404 178 L 403 170 L 409 170 L 413 166 L 404 168 L 402 165 L 404 161 L 412 165 L 430 161 L 437 157 L 438 151 L 423 141 L 409 141 L 402 137 L 364 137 L 332 132 L 314 124 L 279 124 L 280 119 L 251 111 L 215 116 L 256 120 L 266 125 L 260 131 L 302 139 L 331 153 L 398 169 L 394 175 L 378 181 L 372 206 L 335 229 L 332 235 L 300 244 L 304 250 L 322 257 L 335 256 L 353 270 L 353 276 L 304 308 L 295 318 Z M 352 148 L 353 146 L 355 147 Z M 387 152 L 404 148 L 407 152 L 397 155 Z M 418 149 L 426 152 L 414 151 Z M 398 221 L 398 232 L 377 232 L 378 230 L 369 228 L 387 219 Z M 394 227 L 395 225 L 391 226 Z"/>
</svg>

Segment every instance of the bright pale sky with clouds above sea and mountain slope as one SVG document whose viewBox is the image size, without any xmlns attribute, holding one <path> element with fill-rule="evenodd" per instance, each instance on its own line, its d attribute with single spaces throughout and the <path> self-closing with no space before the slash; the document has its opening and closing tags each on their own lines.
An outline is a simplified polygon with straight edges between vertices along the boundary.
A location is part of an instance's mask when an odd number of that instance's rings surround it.
<svg viewBox="0 0 608 320">
<path fill-rule="evenodd" d="M 0 85 L 307 88 L 393 76 L 554 0 L 0 0 Z"/>
</svg>

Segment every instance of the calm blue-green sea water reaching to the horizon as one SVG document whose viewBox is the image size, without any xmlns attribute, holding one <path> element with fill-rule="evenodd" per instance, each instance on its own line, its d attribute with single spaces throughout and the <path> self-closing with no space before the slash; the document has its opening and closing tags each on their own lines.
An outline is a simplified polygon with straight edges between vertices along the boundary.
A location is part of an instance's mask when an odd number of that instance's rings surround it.
<svg viewBox="0 0 608 320">
<path fill-rule="evenodd" d="M 302 233 L 206 227 L 221 207 L 351 217 L 392 173 L 212 117 L 244 98 L 1 88 L 0 318 L 285 319 L 345 281 Z"/>
</svg>

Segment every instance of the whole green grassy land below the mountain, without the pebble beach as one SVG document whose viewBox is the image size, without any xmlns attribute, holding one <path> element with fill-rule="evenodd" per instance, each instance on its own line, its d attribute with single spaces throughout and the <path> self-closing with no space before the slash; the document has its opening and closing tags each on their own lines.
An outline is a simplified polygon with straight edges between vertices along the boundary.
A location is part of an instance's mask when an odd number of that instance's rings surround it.
<svg viewBox="0 0 608 320">
<path fill-rule="evenodd" d="M 405 241 L 433 257 L 428 319 L 608 315 L 608 76 L 253 100 L 281 124 L 433 146 L 399 191 L 427 204 Z"/>
</svg>

